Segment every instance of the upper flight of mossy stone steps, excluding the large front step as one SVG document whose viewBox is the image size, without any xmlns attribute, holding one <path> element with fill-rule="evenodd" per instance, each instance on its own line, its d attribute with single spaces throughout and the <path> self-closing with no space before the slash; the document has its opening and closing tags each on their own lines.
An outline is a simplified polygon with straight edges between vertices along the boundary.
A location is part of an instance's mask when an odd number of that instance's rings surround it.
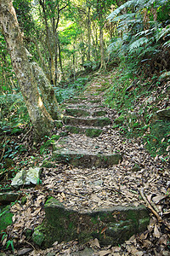
<svg viewBox="0 0 170 256">
<path fill-rule="evenodd" d="M 67 103 L 65 129 L 78 136 L 65 137 L 59 140 L 59 143 L 54 143 L 53 159 L 70 163 L 72 166 L 88 168 L 118 164 L 122 160 L 122 154 L 110 150 L 103 152 L 98 141 L 94 140 L 94 137 L 100 136 L 105 127 L 111 125 L 111 119 L 101 99 L 90 95 L 71 99 Z M 89 144 L 93 145 L 93 151 L 91 147 L 88 148 Z"/>
</svg>

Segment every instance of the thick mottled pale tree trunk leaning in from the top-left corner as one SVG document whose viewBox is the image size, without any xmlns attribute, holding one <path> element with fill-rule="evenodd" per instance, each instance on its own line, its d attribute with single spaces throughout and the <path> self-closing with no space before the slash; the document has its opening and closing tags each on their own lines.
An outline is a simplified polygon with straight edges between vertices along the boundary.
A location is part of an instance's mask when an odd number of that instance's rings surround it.
<svg viewBox="0 0 170 256">
<path fill-rule="evenodd" d="M 35 140 L 50 135 L 54 121 L 42 103 L 37 90 L 36 79 L 26 55 L 22 34 L 12 0 L 0 0 L 0 26 L 8 45 L 14 73 L 26 102 L 26 108 L 34 127 Z"/>
</svg>

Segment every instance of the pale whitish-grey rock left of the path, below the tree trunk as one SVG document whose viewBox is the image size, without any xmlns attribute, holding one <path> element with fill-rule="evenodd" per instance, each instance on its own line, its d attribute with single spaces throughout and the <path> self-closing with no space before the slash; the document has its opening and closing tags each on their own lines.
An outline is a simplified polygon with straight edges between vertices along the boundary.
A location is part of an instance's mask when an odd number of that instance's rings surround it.
<svg viewBox="0 0 170 256">
<path fill-rule="evenodd" d="M 14 177 L 11 186 L 19 188 L 22 185 L 36 185 L 40 177 L 40 167 L 30 167 L 28 170 L 21 170 Z"/>
</svg>

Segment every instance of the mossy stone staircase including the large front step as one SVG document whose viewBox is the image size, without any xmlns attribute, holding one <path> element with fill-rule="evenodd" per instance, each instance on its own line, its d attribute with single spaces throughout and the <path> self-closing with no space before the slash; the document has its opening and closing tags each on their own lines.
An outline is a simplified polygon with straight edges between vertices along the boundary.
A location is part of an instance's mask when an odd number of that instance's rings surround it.
<svg viewBox="0 0 170 256">
<path fill-rule="evenodd" d="M 94 93 L 95 88 L 90 88 L 84 95 L 65 103 L 64 123 L 68 136 L 54 143 L 53 160 L 69 164 L 71 172 L 74 168 L 79 168 L 80 172 L 88 168 L 91 173 L 96 168 L 104 168 L 107 174 L 108 168 L 122 161 L 122 153 L 116 152 L 116 142 L 113 143 L 111 137 L 106 139 L 111 118 L 102 98 Z M 141 205 L 116 205 L 83 212 L 83 209 L 67 208 L 51 197 L 44 209 L 46 218 L 33 234 L 36 237 L 43 230 L 44 247 L 54 241 L 86 242 L 94 238 L 98 238 L 101 245 L 121 244 L 133 234 L 146 230 L 150 219 L 149 212 Z"/>
</svg>

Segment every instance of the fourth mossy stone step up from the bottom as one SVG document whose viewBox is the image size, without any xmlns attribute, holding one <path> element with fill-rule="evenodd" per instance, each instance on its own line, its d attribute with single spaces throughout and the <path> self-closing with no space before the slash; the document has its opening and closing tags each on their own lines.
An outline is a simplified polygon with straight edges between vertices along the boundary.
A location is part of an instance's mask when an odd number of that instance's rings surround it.
<svg viewBox="0 0 170 256">
<path fill-rule="evenodd" d="M 85 125 L 85 126 L 98 126 L 104 127 L 106 125 L 111 125 L 111 119 L 109 118 L 89 118 L 89 119 L 82 119 L 76 117 L 64 117 L 65 125 Z"/>
</svg>

